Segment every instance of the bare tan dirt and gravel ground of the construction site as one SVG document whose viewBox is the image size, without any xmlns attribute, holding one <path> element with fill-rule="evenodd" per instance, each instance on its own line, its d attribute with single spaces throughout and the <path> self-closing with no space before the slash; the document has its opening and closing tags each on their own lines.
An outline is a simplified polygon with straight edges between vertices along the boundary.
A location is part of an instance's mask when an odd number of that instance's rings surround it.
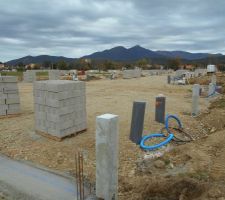
<svg viewBox="0 0 225 200">
<path fill-rule="evenodd" d="M 94 183 L 95 118 L 113 113 L 120 118 L 119 199 L 223 200 L 225 118 L 221 116 L 225 116 L 224 108 L 208 110 L 209 103 L 201 98 L 203 114 L 191 117 L 190 89 L 191 86 L 167 85 L 165 76 L 87 82 L 88 130 L 57 142 L 35 134 L 32 84 L 20 83 L 22 114 L 0 119 L 0 152 L 14 159 L 73 173 L 74 152 L 80 149 L 85 154 L 85 175 Z M 165 152 L 163 156 L 150 159 L 152 154 L 129 141 L 132 103 L 134 100 L 148 102 L 145 134 L 159 132 L 162 125 L 154 122 L 154 106 L 155 96 L 160 93 L 167 97 L 167 113 L 177 114 L 195 141 L 182 145 L 171 143 L 159 151 Z M 210 122 L 215 118 L 217 122 L 214 109 L 218 110 L 220 121 L 210 125 L 207 119 Z"/>
</svg>

